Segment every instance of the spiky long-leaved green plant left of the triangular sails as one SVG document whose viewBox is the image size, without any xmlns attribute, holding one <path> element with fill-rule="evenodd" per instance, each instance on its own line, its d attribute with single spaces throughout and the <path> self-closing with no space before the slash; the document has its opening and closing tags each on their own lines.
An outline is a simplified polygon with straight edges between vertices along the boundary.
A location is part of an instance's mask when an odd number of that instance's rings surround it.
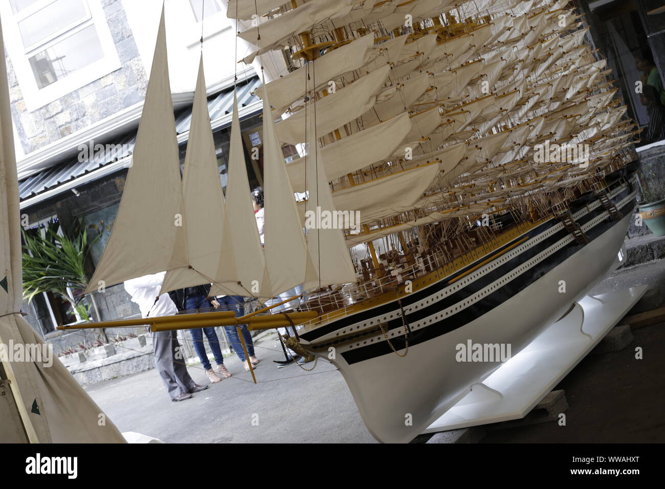
<svg viewBox="0 0 665 489">
<path fill-rule="evenodd" d="M 83 220 L 74 223 L 70 232 L 61 228 L 55 220 L 47 222 L 43 228 L 23 230 L 23 295 L 32 301 L 38 293 L 52 292 L 68 301 L 72 311 L 76 311 L 82 321 L 92 321 L 90 308 L 94 308 L 96 317 L 100 314 L 94 295 L 90 294 L 92 304 L 76 300 L 72 290 L 85 290 L 88 277 L 85 273 L 86 259 L 90 247 L 100 238 L 88 241 L 88 229 Z M 102 330 L 104 343 L 108 337 Z"/>
</svg>

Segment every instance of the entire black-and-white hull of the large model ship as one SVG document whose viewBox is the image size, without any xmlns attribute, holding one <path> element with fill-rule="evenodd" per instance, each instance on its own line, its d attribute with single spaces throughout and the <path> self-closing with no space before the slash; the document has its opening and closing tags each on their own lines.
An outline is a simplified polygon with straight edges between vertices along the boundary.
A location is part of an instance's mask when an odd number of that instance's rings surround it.
<svg viewBox="0 0 665 489">
<path fill-rule="evenodd" d="M 483 266 L 473 269 L 488 255 L 414 289 L 401 307 L 395 300 L 306 329 L 301 344 L 324 359 L 334 347 L 331 362 L 372 435 L 408 442 L 501 365 L 457 361 L 458 345 L 510 345 L 516 355 L 612 269 L 635 195 L 632 182 L 610 185 L 619 220 L 600 198 L 572 214 L 588 243 L 551 218 L 488 253 L 506 250 Z"/>
</svg>

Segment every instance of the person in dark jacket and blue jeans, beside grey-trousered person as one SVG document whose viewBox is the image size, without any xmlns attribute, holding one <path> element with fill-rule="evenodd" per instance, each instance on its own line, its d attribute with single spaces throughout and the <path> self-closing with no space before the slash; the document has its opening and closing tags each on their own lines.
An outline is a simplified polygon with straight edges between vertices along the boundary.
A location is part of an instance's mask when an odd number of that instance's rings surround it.
<svg viewBox="0 0 665 489">
<path fill-rule="evenodd" d="M 210 285 L 197 285 L 196 287 L 186 287 L 185 289 L 178 289 L 175 291 L 169 292 L 171 299 L 176 303 L 178 311 L 187 311 L 187 312 L 196 312 L 196 311 L 206 311 L 209 310 L 210 306 L 215 309 L 219 309 L 219 302 L 217 300 L 209 298 Z M 202 331 L 201 331 L 202 330 Z M 194 351 L 199 356 L 201 360 L 201 365 L 205 369 L 205 375 L 207 375 L 210 383 L 216 384 L 221 381 L 215 371 L 213 371 L 210 361 L 208 360 L 207 353 L 205 352 L 205 345 L 203 344 L 203 335 L 208 340 L 210 349 L 212 350 L 213 356 L 215 357 L 215 362 L 217 363 L 217 371 L 225 379 L 231 377 L 231 373 L 224 365 L 224 357 L 221 355 L 221 348 L 219 347 L 219 338 L 217 333 L 215 333 L 214 327 L 207 328 L 192 328 L 190 329 L 192 334 L 192 342 L 194 343 Z"/>
</svg>

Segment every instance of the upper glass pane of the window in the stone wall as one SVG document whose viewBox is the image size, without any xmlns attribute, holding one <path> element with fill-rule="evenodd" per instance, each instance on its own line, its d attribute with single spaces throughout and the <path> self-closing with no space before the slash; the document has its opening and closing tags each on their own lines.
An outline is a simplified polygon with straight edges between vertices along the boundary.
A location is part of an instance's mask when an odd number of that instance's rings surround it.
<svg viewBox="0 0 665 489">
<path fill-rule="evenodd" d="M 87 17 L 82 0 L 57 0 L 19 22 L 23 46 L 47 39 L 68 25 Z"/>
</svg>

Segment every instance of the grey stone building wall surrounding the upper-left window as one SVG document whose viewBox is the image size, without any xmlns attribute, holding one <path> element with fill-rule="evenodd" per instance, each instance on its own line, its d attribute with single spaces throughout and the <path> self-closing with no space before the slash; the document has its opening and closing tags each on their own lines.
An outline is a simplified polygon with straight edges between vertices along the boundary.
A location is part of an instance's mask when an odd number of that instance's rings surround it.
<svg viewBox="0 0 665 489">
<path fill-rule="evenodd" d="M 102 0 L 122 68 L 28 112 L 11 59 L 7 77 L 12 117 L 25 154 L 141 102 L 148 77 L 120 0 Z"/>
</svg>

